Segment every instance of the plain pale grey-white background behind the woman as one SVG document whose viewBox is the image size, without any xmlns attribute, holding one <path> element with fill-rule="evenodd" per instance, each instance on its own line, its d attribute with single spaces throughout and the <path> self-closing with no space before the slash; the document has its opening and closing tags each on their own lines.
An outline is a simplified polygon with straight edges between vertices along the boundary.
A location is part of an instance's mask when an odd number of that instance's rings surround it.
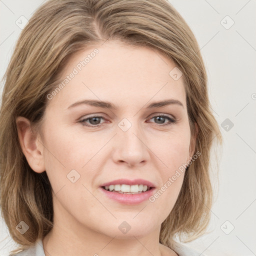
<svg viewBox="0 0 256 256">
<path fill-rule="evenodd" d="M 223 135 L 209 233 L 190 246 L 205 255 L 256 255 L 255 0 L 169 1 L 197 38 L 210 102 Z M 18 22 L 29 19 L 42 2 L 0 0 L 0 77 L 21 31 Z M 0 255 L 8 255 L 13 246 L 0 219 Z"/>
</svg>

